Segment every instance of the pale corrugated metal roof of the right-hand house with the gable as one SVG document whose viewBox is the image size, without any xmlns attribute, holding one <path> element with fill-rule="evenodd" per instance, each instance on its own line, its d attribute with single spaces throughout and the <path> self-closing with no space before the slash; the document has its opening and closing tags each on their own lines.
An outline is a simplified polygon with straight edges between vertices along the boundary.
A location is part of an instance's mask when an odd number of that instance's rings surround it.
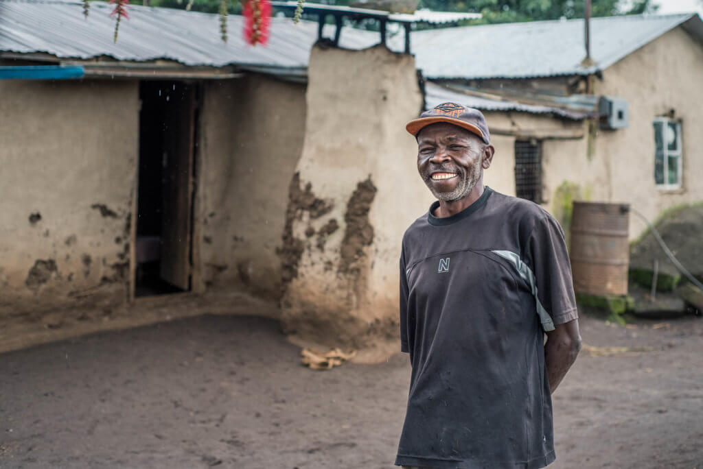
<svg viewBox="0 0 703 469">
<path fill-rule="evenodd" d="M 411 40 L 418 68 L 428 78 L 550 77 L 605 70 L 678 25 L 703 42 L 697 14 L 593 18 L 592 67 L 581 67 L 583 20 L 428 29 L 413 32 Z"/>
</svg>

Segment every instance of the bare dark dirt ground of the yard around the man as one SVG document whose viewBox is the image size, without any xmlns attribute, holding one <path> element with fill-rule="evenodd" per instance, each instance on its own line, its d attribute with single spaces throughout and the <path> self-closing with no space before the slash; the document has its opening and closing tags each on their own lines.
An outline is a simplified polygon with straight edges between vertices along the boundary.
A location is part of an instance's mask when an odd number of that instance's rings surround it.
<svg viewBox="0 0 703 469">
<path fill-rule="evenodd" d="M 583 317 L 550 468 L 703 468 L 703 320 Z M 649 349 L 647 349 L 649 350 Z M 311 371 L 272 319 L 191 317 L 0 355 L 1 468 L 390 468 L 404 355 Z"/>
</svg>

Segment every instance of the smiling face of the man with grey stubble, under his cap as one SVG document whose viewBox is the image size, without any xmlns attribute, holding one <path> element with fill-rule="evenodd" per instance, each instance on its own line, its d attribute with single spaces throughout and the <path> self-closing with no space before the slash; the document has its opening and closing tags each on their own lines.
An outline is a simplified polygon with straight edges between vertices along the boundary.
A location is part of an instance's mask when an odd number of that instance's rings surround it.
<svg viewBox="0 0 703 469">
<path fill-rule="evenodd" d="M 452 124 L 423 128 L 418 133 L 418 171 L 434 197 L 448 202 L 467 197 L 483 178 L 486 147 L 490 145 L 479 136 Z"/>
</svg>

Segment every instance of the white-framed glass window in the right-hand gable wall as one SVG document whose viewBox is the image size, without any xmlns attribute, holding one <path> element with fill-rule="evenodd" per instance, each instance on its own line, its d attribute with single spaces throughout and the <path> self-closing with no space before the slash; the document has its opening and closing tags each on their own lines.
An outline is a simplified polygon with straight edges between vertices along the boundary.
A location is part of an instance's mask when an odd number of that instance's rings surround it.
<svg viewBox="0 0 703 469">
<path fill-rule="evenodd" d="M 667 117 L 654 119 L 654 183 L 681 187 L 681 122 Z"/>
</svg>

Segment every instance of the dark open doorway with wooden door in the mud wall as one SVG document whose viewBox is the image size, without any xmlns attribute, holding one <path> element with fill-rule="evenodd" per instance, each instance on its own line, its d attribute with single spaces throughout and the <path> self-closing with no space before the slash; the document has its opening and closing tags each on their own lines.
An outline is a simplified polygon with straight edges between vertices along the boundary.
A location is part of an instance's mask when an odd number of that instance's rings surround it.
<svg viewBox="0 0 703 469">
<path fill-rule="evenodd" d="M 195 85 L 139 85 L 139 180 L 134 296 L 191 289 Z"/>
</svg>

